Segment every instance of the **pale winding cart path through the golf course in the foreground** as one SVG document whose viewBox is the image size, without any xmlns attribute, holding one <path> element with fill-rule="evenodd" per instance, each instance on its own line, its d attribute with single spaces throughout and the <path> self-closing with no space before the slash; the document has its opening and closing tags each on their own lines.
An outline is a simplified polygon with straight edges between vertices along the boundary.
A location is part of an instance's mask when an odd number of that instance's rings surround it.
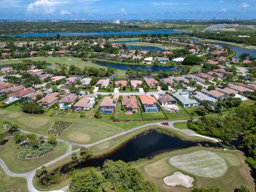
<svg viewBox="0 0 256 192">
<path fill-rule="evenodd" d="M 65 141 L 65 140 L 61 140 L 61 139 L 57 139 L 58 141 L 60 142 L 65 142 L 68 144 L 68 151 L 66 154 L 58 157 L 58 158 L 55 158 L 53 159 L 52 161 L 42 165 L 42 166 L 49 166 L 55 162 L 58 162 L 60 161 L 62 158 L 65 158 L 69 155 L 71 155 L 72 153 L 75 153 L 75 152 L 78 152 L 80 149 L 76 149 L 74 151 L 71 150 L 71 145 L 77 145 L 77 146 L 81 146 L 81 147 L 92 147 L 92 146 L 95 146 L 95 145 L 98 145 L 99 143 L 102 143 L 102 142 L 105 142 L 105 141 L 108 141 L 108 140 L 111 140 L 111 139 L 114 139 L 114 138 L 117 138 L 117 137 L 120 137 L 121 135 L 125 135 L 127 133 L 130 133 L 130 132 L 133 132 L 133 131 L 136 131 L 136 130 L 139 130 L 139 129 L 142 129 L 143 127 L 146 127 L 146 126 L 150 126 L 150 125 L 158 125 L 158 126 L 163 126 L 163 127 L 166 127 L 168 129 L 172 129 L 172 130 L 175 130 L 175 131 L 180 131 L 186 135 L 189 135 L 191 137 L 193 136 L 196 136 L 196 137 L 202 137 L 202 138 L 205 138 L 205 139 L 209 139 L 209 140 L 212 140 L 214 142 L 218 142 L 217 139 L 214 139 L 214 138 L 210 138 L 210 137 L 205 137 L 203 135 L 199 135 L 199 134 L 195 134 L 195 132 L 191 131 L 191 130 L 181 130 L 181 129 L 177 129 L 173 126 L 173 123 L 175 122 L 187 122 L 187 120 L 181 120 L 181 121 L 168 121 L 169 122 L 169 126 L 166 126 L 166 125 L 163 125 L 161 124 L 161 122 L 156 122 L 156 123 L 149 123 L 149 124 L 146 124 L 146 125 L 141 125 L 141 126 L 138 126 L 138 127 L 134 127 L 133 129 L 130 129 L 130 130 L 127 130 L 127 131 L 124 131 L 122 133 L 118 133 L 118 134 L 115 134 L 111 137 L 108 137 L 108 138 L 105 138 L 105 139 L 101 139 L 99 141 L 96 141 L 96 142 L 93 142 L 93 143 L 90 143 L 90 144 L 81 144 L 81 143 L 76 143 L 76 142 L 70 142 L 70 141 Z M 21 132 L 23 133 L 31 133 L 29 131 L 24 131 L 24 130 L 20 130 Z M 44 137 L 44 138 L 47 138 L 45 135 L 41 135 L 41 134 L 36 134 L 38 137 Z M 30 192 L 39 192 L 39 190 L 37 190 L 34 185 L 33 185 L 33 178 L 35 176 L 35 172 L 36 170 L 33 170 L 33 171 L 30 171 L 30 172 L 27 172 L 27 173 L 14 173 L 12 171 L 10 171 L 8 169 L 8 167 L 6 166 L 6 164 L 4 163 L 4 161 L 0 158 L 0 165 L 3 167 L 3 170 L 4 172 L 11 176 L 11 177 L 23 177 L 23 178 L 26 178 L 27 179 L 27 185 L 28 185 L 28 191 Z M 38 167 L 39 168 L 39 167 Z M 37 169 L 38 169 L 37 168 Z M 67 187 L 63 188 L 63 189 L 66 189 Z M 59 190 L 61 191 L 61 190 Z"/>
</svg>

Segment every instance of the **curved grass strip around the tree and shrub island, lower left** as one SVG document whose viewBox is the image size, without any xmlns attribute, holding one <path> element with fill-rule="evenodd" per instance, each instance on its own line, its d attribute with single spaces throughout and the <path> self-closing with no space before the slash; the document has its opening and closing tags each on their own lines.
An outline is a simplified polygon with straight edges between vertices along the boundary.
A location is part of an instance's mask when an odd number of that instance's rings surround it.
<svg viewBox="0 0 256 192">
<path fill-rule="evenodd" d="M 9 141 L 1 147 L 0 158 L 3 159 L 11 171 L 17 173 L 32 171 L 37 167 L 65 154 L 68 150 L 68 145 L 66 143 L 58 142 L 57 147 L 55 147 L 51 153 L 46 154 L 43 157 L 36 159 L 19 159 L 17 157 L 18 145 L 14 143 L 13 138 L 9 137 L 8 140 Z"/>
</svg>

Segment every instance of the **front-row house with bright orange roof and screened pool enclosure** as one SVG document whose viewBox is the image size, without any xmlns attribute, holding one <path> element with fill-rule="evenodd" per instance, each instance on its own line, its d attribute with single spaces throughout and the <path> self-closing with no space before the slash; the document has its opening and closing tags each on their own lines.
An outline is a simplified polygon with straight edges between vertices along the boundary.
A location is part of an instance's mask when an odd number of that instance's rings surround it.
<svg viewBox="0 0 256 192">
<path fill-rule="evenodd" d="M 151 95 L 139 95 L 142 108 L 145 112 L 159 112 L 157 101 Z"/>
</svg>

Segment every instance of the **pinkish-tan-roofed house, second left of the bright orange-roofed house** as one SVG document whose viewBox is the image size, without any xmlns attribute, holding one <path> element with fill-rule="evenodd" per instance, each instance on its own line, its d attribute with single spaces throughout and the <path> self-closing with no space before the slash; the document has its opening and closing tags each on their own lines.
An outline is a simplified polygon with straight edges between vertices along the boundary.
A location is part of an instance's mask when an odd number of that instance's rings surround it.
<svg viewBox="0 0 256 192">
<path fill-rule="evenodd" d="M 99 112 L 111 114 L 115 112 L 117 98 L 104 97 L 100 103 Z"/>
</svg>

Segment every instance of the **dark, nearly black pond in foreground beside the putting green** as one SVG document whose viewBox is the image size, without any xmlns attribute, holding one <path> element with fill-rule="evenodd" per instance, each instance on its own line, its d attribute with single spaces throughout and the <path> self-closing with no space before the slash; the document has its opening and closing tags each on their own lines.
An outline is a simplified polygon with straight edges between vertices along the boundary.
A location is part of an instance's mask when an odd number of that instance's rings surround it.
<svg viewBox="0 0 256 192">
<path fill-rule="evenodd" d="M 152 158 L 157 154 L 164 153 L 166 151 L 172 151 L 177 149 L 185 149 L 189 147 L 198 146 L 198 144 L 210 147 L 216 147 L 214 143 L 210 142 L 193 142 L 187 140 L 181 140 L 178 137 L 173 137 L 168 134 L 159 133 L 155 130 L 151 130 L 134 137 L 133 139 L 124 143 L 113 153 L 103 155 L 99 158 L 94 158 L 90 162 L 91 166 L 102 166 L 106 159 L 113 161 L 122 160 L 124 162 L 137 161 L 140 158 Z M 85 165 L 80 165 L 85 166 Z"/>
</svg>

